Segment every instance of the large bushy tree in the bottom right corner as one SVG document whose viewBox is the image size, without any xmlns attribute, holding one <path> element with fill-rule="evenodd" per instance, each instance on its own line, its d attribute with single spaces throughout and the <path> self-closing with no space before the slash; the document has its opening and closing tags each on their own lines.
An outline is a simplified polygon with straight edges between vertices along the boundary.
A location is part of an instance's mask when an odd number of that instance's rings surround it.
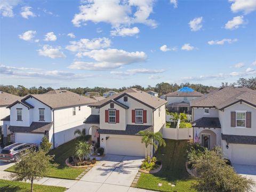
<svg viewBox="0 0 256 192">
<path fill-rule="evenodd" d="M 198 157 L 193 165 L 198 176 L 193 188 L 202 192 L 252 191 L 255 183 L 237 174 L 222 156 L 221 149 L 215 149 L 205 150 L 203 155 Z"/>
</svg>

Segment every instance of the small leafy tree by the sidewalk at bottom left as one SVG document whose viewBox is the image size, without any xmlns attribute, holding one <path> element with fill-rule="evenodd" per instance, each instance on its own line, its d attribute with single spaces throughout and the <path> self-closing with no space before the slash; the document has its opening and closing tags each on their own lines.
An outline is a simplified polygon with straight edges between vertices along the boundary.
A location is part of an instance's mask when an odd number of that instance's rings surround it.
<svg viewBox="0 0 256 192">
<path fill-rule="evenodd" d="M 20 162 L 14 165 L 15 174 L 12 176 L 19 181 L 30 180 L 30 191 L 33 192 L 34 180 L 45 177 L 53 166 L 53 156 L 46 155 L 45 151 L 26 150 L 26 155 L 21 156 Z"/>
</svg>

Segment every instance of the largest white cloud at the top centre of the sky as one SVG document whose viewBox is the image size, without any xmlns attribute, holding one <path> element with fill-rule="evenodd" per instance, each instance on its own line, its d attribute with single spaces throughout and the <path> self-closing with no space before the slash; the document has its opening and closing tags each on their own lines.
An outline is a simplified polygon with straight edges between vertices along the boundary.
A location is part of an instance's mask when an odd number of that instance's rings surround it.
<svg viewBox="0 0 256 192">
<path fill-rule="evenodd" d="M 79 6 L 80 12 L 75 14 L 72 22 L 76 27 L 92 21 L 110 23 L 114 28 L 122 25 L 130 26 L 133 23 L 143 23 L 154 28 L 157 26 L 155 20 L 149 19 L 149 15 L 153 12 L 153 3 L 153 0 L 129 2 L 91 0 Z"/>
</svg>

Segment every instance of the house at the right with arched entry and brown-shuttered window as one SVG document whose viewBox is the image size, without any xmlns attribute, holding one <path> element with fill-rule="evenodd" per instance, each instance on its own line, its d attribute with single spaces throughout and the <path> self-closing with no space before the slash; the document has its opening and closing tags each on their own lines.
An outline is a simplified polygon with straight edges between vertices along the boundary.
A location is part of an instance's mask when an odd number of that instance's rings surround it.
<svg viewBox="0 0 256 192">
<path fill-rule="evenodd" d="M 190 102 L 194 137 L 233 164 L 256 165 L 256 91 L 225 87 Z"/>
</svg>

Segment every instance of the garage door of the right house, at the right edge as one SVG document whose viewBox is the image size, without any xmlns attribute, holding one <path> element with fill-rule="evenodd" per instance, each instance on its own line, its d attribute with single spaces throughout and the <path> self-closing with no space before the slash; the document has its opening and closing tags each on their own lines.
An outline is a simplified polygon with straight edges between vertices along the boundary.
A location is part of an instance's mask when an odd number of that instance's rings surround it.
<svg viewBox="0 0 256 192">
<path fill-rule="evenodd" d="M 232 144 L 233 164 L 256 165 L 256 145 Z"/>
</svg>

